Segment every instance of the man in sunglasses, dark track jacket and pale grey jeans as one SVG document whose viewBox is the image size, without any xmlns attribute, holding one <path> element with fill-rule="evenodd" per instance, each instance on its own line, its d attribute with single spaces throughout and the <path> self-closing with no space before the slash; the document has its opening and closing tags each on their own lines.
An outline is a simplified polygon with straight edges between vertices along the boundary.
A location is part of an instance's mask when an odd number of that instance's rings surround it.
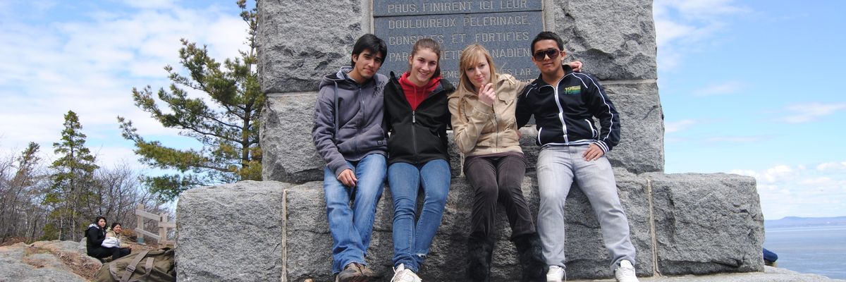
<svg viewBox="0 0 846 282">
<path fill-rule="evenodd" d="M 517 127 L 535 116 L 537 184 L 541 204 L 537 215 L 547 281 L 564 279 L 564 203 L 575 180 L 585 193 L 602 228 L 611 269 L 621 282 L 637 282 L 629 221 L 617 194 L 611 163 L 605 154 L 620 141 L 620 118 L 602 86 L 574 73 L 564 59 L 561 37 L 543 31 L 531 42 L 532 62 L 541 75 L 518 98 Z M 599 119 L 597 129 L 593 119 Z"/>
</svg>

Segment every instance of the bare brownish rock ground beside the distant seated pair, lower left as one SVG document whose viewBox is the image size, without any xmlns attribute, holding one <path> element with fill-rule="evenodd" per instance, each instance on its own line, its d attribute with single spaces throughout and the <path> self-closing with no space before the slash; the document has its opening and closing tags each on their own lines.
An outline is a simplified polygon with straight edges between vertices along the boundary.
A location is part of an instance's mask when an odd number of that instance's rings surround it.
<svg viewBox="0 0 846 282">
<path fill-rule="evenodd" d="M 133 252 L 158 247 L 133 244 Z M 0 246 L 0 282 L 87 282 L 101 266 L 85 254 L 85 241 L 13 240 Z"/>
</svg>

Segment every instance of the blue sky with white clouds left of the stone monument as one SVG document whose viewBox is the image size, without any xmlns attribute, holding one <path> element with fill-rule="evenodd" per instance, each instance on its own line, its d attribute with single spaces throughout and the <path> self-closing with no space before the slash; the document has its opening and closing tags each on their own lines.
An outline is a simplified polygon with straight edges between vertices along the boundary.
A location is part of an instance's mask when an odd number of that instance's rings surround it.
<svg viewBox="0 0 846 282">
<path fill-rule="evenodd" d="M 86 145 L 102 147 L 107 141 L 120 141 L 118 115 L 131 119 L 141 135 L 177 135 L 178 130 L 162 128 L 148 113 L 135 107 L 132 87 L 151 85 L 153 91 L 169 86 L 172 65 L 179 72 L 180 38 L 207 44 L 210 56 L 239 57 L 247 25 L 233 11 L 216 8 L 182 8 L 173 1 L 140 3 L 112 10 L 103 5 L 68 8 L 85 3 L 0 4 L 0 8 L 44 9 L 64 14 L 57 21 L 30 19 L 18 13 L 0 19 L 0 147 L 25 147 L 29 141 L 41 144 L 42 152 L 52 152 L 59 140 L 63 114 L 73 110 L 80 116 Z M 231 3 L 234 6 L 234 3 Z M 7 10 L 0 14 L 8 15 Z M 80 14 L 85 13 L 85 14 Z M 35 17 L 35 16 L 33 16 Z M 131 146 L 131 144 L 127 144 Z M 118 160 L 121 155 L 135 159 L 127 148 L 106 147 L 103 158 Z"/>
</svg>

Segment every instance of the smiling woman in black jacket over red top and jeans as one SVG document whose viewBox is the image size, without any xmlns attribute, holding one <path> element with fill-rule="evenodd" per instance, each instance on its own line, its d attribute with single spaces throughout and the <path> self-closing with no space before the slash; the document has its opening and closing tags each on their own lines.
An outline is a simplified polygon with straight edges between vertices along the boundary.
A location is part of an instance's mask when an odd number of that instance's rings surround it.
<svg viewBox="0 0 846 282">
<path fill-rule="evenodd" d="M 393 196 L 392 282 L 420 282 L 417 272 L 441 226 L 449 191 L 447 95 L 455 91 L 441 80 L 441 47 L 431 38 L 415 42 L 409 72 L 391 73 L 385 86 L 387 180 Z M 418 217 L 417 194 L 423 191 Z M 417 218 L 415 223 L 415 218 Z"/>
</svg>

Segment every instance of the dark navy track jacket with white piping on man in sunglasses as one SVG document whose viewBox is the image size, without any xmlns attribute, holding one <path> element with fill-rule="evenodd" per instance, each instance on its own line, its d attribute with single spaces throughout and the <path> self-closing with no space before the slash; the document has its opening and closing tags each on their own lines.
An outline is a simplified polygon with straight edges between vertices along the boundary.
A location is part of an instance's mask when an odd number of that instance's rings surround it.
<svg viewBox="0 0 846 282">
<path fill-rule="evenodd" d="M 535 115 L 538 146 L 596 144 L 608 152 L 620 142 L 620 117 L 602 86 L 591 75 L 574 73 L 563 65 L 566 75 L 558 87 L 541 76 L 525 87 L 517 102 L 517 126 L 523 127 Z M 593 117 L 601 128 L 594 126 Z"/>
</svg>

